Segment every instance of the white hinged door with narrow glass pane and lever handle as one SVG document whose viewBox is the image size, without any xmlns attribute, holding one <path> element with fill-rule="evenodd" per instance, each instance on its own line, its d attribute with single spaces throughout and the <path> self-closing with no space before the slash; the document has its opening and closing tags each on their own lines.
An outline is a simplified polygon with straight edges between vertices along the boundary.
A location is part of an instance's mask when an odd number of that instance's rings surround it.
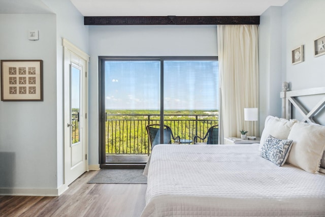
<svg viewBox="0 0 325 217">
<path fill-rule="evenodd" d="M 87 164 L 87 60 L 64 48 L 64 179 L 69 185 Z"/>
</svg>

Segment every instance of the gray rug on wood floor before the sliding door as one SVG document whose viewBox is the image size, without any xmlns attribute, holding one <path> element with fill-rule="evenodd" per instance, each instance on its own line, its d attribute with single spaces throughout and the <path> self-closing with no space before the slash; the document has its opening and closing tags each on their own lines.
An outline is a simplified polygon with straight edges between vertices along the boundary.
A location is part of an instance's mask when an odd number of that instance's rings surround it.
<svg viewBox="0 0 325 217">
<path fill-rule="evenodd" d="M 88 183 L 146 184 L 143 169 L 101 169 Z"/>
</svg>

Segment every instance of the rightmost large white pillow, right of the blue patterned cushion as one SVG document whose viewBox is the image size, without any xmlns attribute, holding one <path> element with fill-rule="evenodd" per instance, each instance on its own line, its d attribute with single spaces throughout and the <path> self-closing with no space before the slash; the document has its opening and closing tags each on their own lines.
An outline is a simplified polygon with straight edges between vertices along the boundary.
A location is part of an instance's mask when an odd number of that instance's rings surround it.
<svg viewBox="0 0 325 217">
<path fill-rule="evenodd" d="M 288 139 L 293 140 L 293 145 L 286 162 L 316 173 L 325 149 L 325 126 L 295 123 Z"/>
</svg>

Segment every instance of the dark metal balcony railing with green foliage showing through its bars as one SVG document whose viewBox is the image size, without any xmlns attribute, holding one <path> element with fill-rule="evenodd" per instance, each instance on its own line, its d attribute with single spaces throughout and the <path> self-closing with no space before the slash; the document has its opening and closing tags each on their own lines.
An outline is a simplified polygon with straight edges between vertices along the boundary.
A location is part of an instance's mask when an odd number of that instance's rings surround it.
<svg viewBox="0 0 325 217">
<path fill-rule="evenodd" d="M 204 137 L 219 122 L 218 114 L 168 114 L 164 118 L 164 125 L 171 127 L 174 136 L 188 140 L 196 135 Z M 152 123 L 160 123 L 160 115 L 106 114 L 106 154 L 149 154 L 146 126 Z"/>
</svg>

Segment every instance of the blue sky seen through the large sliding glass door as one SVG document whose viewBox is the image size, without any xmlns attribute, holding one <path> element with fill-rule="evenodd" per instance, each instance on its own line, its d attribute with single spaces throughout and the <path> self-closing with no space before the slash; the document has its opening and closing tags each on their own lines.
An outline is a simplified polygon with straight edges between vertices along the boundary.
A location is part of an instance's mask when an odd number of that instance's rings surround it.
<svg viewBox="0 0 325 217">
<path fill-rule="evenodd" d="M 166 110 L 217 110 L 217 61 L 164 61 Z M 106 109 L 160 108 L 160 61 L 106 61 Z"/>
</svg>

